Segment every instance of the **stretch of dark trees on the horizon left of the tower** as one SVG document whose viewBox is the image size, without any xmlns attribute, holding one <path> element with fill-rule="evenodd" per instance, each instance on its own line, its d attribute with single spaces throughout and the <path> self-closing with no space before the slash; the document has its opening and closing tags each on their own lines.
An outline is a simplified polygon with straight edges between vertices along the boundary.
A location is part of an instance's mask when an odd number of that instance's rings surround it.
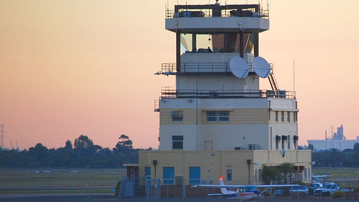
<svg viewBox="0 0 359 202">
<path fill-rule="evenodd" d="M 124 134 L 113 149 L 94 145 L 88 136 L 80 135 L 73 146 L 67 140 L 65 147 L 58 149 L 47 149 L 37 143 L 29 150 L 0 150 L 0 167 L 118 168 L 124 163 L 138 163 L 139 150 L 142 149 L 133 149 L 132 140 Z"/>
</svg>

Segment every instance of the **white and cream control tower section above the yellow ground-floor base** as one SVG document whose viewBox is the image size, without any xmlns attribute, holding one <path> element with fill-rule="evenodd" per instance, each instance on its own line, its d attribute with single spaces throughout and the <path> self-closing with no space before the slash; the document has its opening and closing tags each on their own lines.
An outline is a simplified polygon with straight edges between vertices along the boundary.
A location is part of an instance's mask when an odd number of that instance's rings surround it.
<svg viewBox="0 0 359 202">
<path fill-rule="evenodd" d="M 175 5 L 165 28 L 176 34 L 176 61 L 161 74 L 175 90 L 159 99 L 160 150 L 293 150 L 294 92 L 279 90 L 272 64 L 259 56 L 269 30 L 261 5 Z M 272 89 L 259 89 L 260 80 Z"/>
</svg>

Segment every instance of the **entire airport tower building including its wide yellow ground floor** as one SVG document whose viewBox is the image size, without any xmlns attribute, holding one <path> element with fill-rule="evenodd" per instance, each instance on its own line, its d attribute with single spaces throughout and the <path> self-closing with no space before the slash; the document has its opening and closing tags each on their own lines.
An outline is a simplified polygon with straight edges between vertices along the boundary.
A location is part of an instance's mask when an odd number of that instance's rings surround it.
<svg viewBox="0 0 359 202">
<path fill-rule="evenodd" d="M 176 36 L 176 61 L 162 75 L 159 150 L 141 151 L 128 175 L 183 189 L 193 184 L 263 184 L 265 167 L 290 163 L 288 182 L 311 182 L 311 152 L 298 150 L 295 92 L 279 90 L 273 65 L 260 56 L 269 11 L 260 4 L 175 5 L 165 29 Z M 268 8 L 268 6 L 267 6 Z M 270 82 L 261 90 L 259 82 Z M 176 185 L 184 185 L 176 186 Z M 173 193 L 175 193 L 175 191 Z"/>
</svg>

